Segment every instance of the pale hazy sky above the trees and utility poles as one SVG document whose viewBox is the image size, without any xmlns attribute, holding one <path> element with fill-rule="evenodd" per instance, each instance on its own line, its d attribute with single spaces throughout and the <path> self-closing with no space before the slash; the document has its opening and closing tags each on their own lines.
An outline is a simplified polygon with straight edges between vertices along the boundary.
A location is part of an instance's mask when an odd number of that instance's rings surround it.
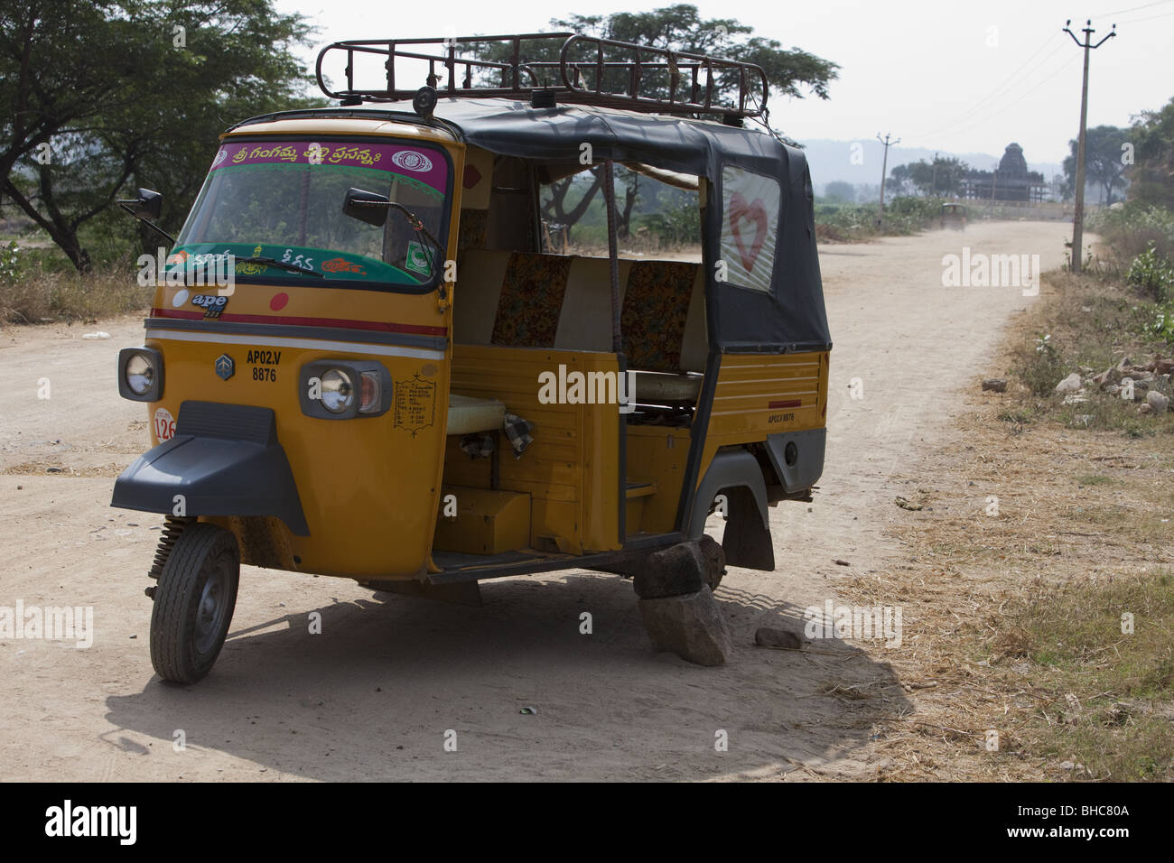
<svg viewBox="0 0 1174 863">
<path fill-rule="evenodd" d="M 277 0 L 317 27 L 318 48 L 343 39 L 498 34 L 552 29 L 573 12 L 648 11 L 661 2 L 558 0 Z M 1082 50 L 1065 21 L 1093 19 L 1088 124 L 1127 126 L 1174 96 L 1174 0 L 892 0 L 747 2 L 700 0 L 703 18 L 736 18 L 757 35 L 839 63 L 826 101 L 774 99 L 771 121 L 798 140 L 871 140 L 892 132 L 902 146 L 1000 154 L 1012 140 L 1032 162 L 1059 162 L 1080 121 Z M 423 85 L 424 82 L 420 81 Z"/>
</svg>

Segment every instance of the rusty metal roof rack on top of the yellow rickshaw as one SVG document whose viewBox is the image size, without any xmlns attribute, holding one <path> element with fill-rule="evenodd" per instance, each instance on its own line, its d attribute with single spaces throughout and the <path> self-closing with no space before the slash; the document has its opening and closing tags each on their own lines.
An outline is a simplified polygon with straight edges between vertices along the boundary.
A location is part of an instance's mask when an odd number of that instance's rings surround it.
<svg viewBox="0 0 1174 863">
<path fill-rule="evenodd" d="M 468 56 L 474 48 L 479 56 Z M 322 76 L 323 61 L 336 52 L 346 55 L 342 89 L 331 89 Z M 385 58 L 385 80 L 356 82 L 355 61 L 365 54 Z M 488 59 L 494 55 L 499 59 Z M 397 61 L 414 63 L 417 70 L 426 62 L 424 83 L 440 97 L 512 96 L 535 107 L 568 102 L 727 120 L 760 117 L 767 109 L 761 66 L 578 33 L 333 42 L 318 53 L 318 86 L 343 104 L 411 100 L 418 88 L 404 86 L 406 69 L 397 69 Z"/>
</svg>

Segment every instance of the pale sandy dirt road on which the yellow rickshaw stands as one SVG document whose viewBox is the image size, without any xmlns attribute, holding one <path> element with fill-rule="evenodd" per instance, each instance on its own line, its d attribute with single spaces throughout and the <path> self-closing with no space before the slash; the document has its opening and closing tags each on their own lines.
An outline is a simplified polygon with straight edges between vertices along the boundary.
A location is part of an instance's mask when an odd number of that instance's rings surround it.
<svg viewBox="0 0 1174 863">
<path fill-rule="evenodd" d="M 1000 331 L 1034 302 L 943 288 L 943 255 L 1038 254 L 1048 269 L 1064 238 L 1062 224 L 1006 222 L 821 250 L 836 343 L 826 468 L 815 503 L 772 511 L 777 571 L 730 569 L 718 589 L 737 646 L 722 668 L 653 653 L 618 577 L 492 581 L 474 609 L 245 567 L 212 674 L 163 685 L 143 595 L 161 519 L 108 506 L 147 441 L 146 412 L 113 379 L 141 319 L 0 330 L 0 607 L 93 606 L 95 625 L 88 649 L 0 642 L 0 778 L 876 777 L 876 729 L 916 709 L 884 642 L 795 653 L 755 647 L 754 632 L 898 565 L 892 501 L 908 485 L 893 478 L 942 464 L 959 393 L 999 371 L 984 364 Z M 97 330 L 110 338 L 82 337 Z"/>
</svg>

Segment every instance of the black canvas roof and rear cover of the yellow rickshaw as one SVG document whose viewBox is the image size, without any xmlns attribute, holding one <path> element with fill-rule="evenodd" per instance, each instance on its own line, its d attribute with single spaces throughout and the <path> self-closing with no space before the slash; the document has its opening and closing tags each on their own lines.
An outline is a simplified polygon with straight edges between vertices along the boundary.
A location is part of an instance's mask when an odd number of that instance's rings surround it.
<svg viewBox="0 0 1174 863">
<path fill-rule="evenodd" d="M 420 123 L 407 112 L 338 108 L 288 112 L 249 122 L 292 116 L 380 116 Z M 831 346 L 816 252 L 814 194 L 803 151 L 753 128 L 585 104 L 533 108 L 513 99 L 440 99 L 440 122 L 466 143 L 491 153 L 546 162 L 574 162 L 589 143 L 594 162 L 640 162 L 708 178 L 722 201 L 726 166 L 778 180 L 781 203 L 771 290 L 749 290 L 716 278 L 717 237 L 726 214 L 706 209 L 706 298 L 711 341 L 723 350 L 798 351 Z M 710 202 L 713 204 L 715 202 Z"/>
</svg>

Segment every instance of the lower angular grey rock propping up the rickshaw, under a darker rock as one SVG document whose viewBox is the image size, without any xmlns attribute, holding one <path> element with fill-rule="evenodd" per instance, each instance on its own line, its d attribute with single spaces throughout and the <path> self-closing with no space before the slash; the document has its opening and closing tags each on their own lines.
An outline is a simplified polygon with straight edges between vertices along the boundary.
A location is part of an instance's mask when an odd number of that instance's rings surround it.
<svg viewBox="0 0 1174 863">
<path fill-rule="evenodd" d="M 699 666 L 724 665 L 734 653 L 726 616 L 708 585 L 682 596 L 642 599 L 640 614 L 657 650 Z"/>
</svg>

